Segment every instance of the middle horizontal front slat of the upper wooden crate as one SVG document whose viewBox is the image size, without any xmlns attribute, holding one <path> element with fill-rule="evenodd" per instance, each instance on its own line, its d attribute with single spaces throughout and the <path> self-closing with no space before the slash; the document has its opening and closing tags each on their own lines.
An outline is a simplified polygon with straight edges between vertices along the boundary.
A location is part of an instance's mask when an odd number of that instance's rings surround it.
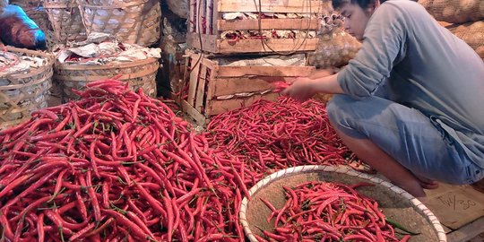
<svg viewBox="0 0 484 242">
<path fill-rule="evenodd" d="M 261 20 L 262 30 L 316 30 L 319 21 L 313 19 L 264 19 Z M 218 20 L 218 30 L 259 30 L 258 20 Z"/>
</svg>

